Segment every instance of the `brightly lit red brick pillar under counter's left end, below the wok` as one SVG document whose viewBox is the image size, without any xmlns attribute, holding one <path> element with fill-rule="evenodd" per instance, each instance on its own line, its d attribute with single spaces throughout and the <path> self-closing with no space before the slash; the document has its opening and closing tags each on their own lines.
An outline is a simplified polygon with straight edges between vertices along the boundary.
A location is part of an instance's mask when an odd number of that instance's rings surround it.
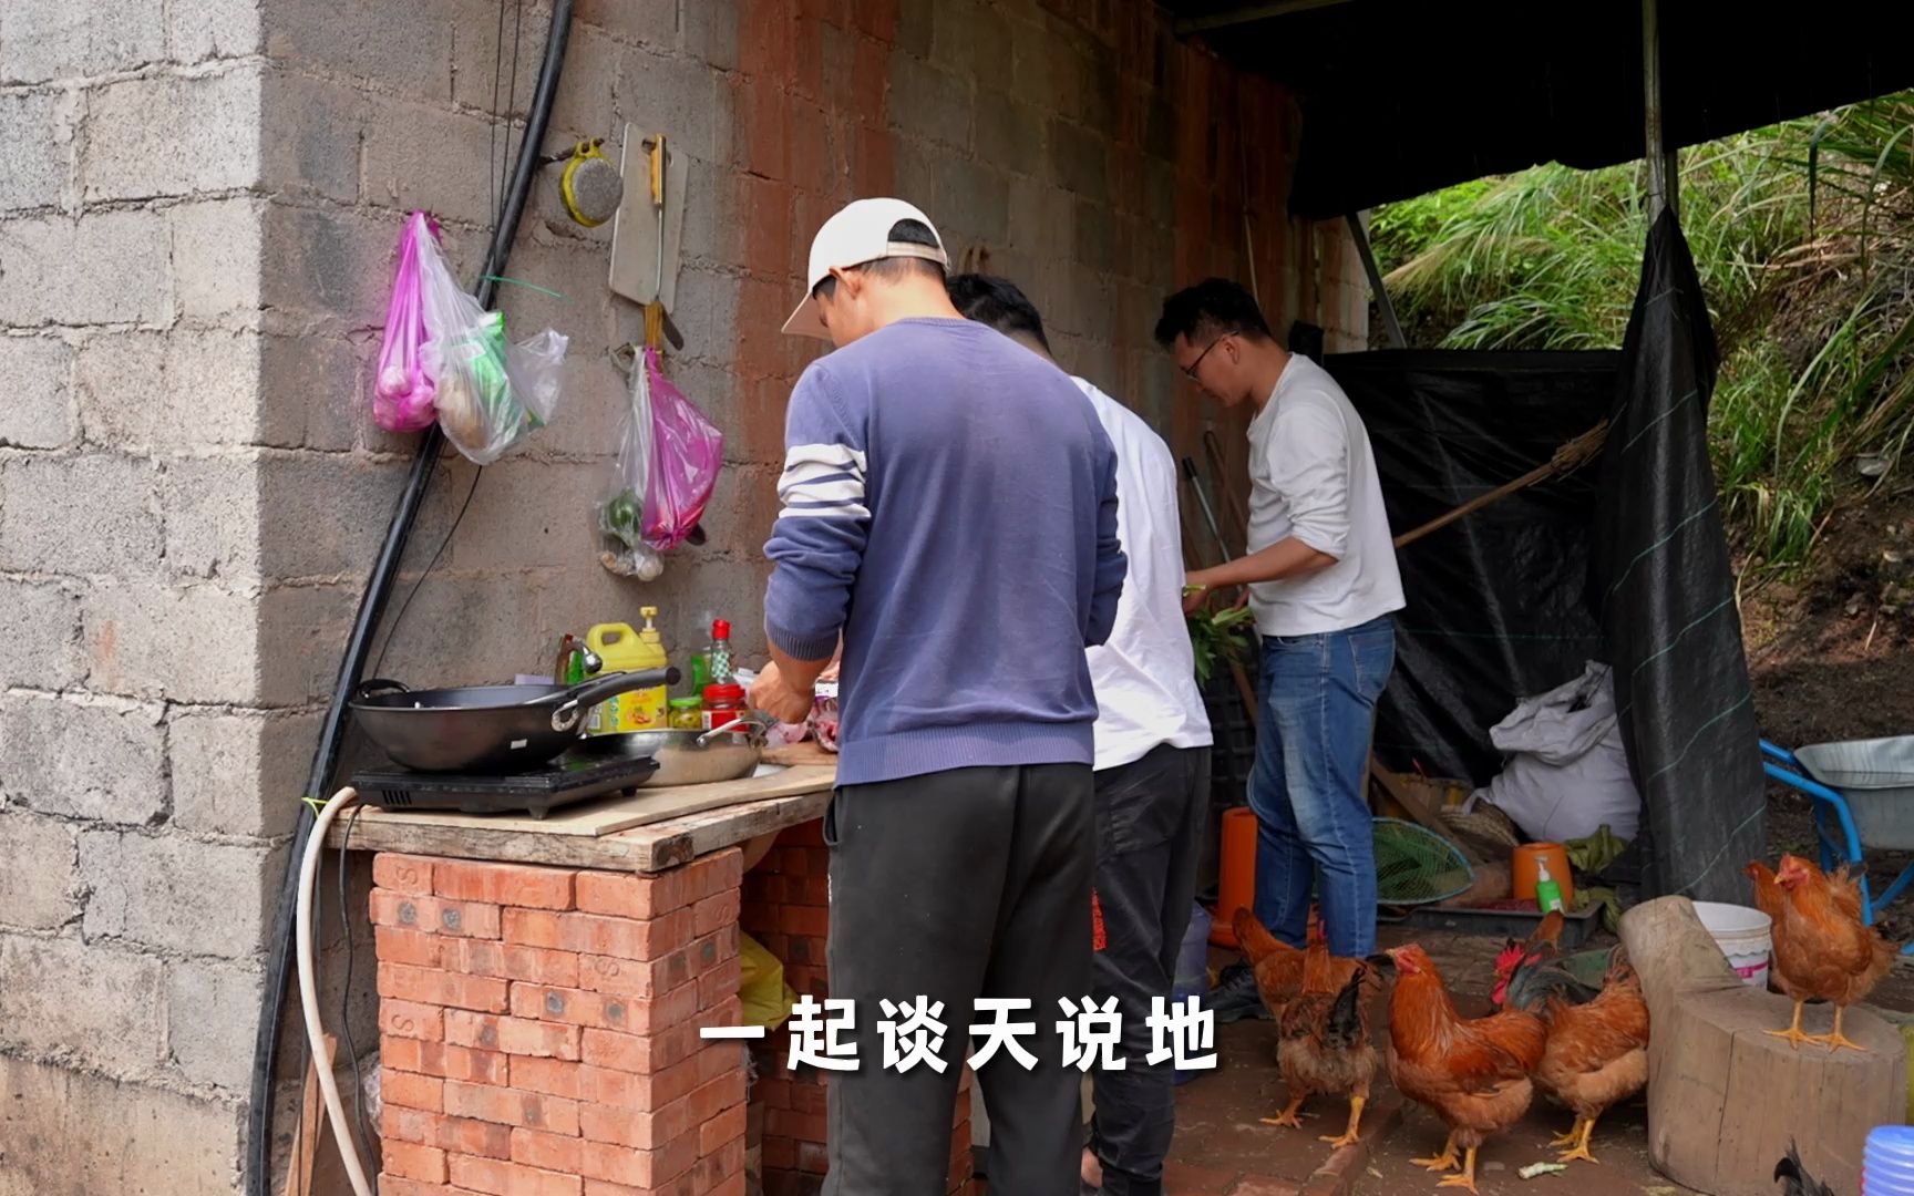
<svg viewBox="0 0 1914 1196">
<path fill-rule="evenodd" d="M 379 1194 L 741 1196 L 741 871 L 377 855 Z"/>
</svg>

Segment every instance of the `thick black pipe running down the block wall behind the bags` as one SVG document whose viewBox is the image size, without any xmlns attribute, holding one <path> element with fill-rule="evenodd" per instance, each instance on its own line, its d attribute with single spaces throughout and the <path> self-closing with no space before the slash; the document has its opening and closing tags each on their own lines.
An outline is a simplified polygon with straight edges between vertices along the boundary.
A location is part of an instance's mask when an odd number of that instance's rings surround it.
<svg viewBox="0 0 1914 1196">
<path fill-rule="evenodd" d="M 540 168 L 538 147 L 551 126 L 551 105 L 559 90 L 559 75 L 565 69 L 565 46 L 570 36 L 572 0 L 555 0 L 551 6 L 551 27 L 545 36 L 545 59 L 538 71 L 538 86 L 532 92 L 532 107 L 526 115 L 524 138 L 519 142 L 519 165 L 505 193 L 505 205 L 498 228 L 492 232 L 492 245 L 480 270 L 477 291 L 478 306 L 490 308 L 498 283 L 496 276 L 505 272 L 511 256 L 511 243 L 519 233 L 524 205 L 530 199 L 532 178 Z M 339 662 L 339 677 L 333 685 L 331 702 L 325 708 L 325 721 L 320 729 L 320 746 L 312 758 L 312 773 L 306 779 L 310 796 L 323 796 L 339 765 L 339 748 L 345 741 L 346 702 L 364 676 L 366 658 L 371 654 L 371 639 L 392 597 L 392 582 L 398 576 L 400 559 L 412 538 L 412 528 L 419 519 L 425 492 L 431 488 L 438 455 L 444 450 L 444 432 L 434 423 L 419 438 L 417 455 L 406 475 L 406 488 L 398 496 L 392 522 L 387 528 L 379 559 L 360 595 L 358 618 L 352 622 L 352 635 L 346 639 L 345 656 Z M 272 1192 L 272 1114 L 274 1114 L 274 1075 L 279 1062 L 279 1020 L 285 1014 L 285 997 L 293 974 L 293 919 L 299 899 L 299 859 L 304 855 L 306 840 L 312 836 L 314 811 L 300 804 L 299 821 L 293 829 L 291 850 L 287 852 L 285 878 L 279 884 L 279 903 L 274 913 L 272 940 L 268 943 L 266 984 L 260 995 L 258 1028 L 253 1041 L 253 1083 L 247 1108 L 247 1196 L 270 1196 Z"/>
</svg>

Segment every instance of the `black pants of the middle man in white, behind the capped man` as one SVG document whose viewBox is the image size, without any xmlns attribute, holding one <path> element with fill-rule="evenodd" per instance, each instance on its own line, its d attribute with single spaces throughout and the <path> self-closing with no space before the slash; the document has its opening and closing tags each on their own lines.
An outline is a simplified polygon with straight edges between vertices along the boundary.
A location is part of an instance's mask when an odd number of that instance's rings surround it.
<svg viewBox="0 0 1914 1196">
<path fill-rule="evenodd" d="M 1095 957 L 1097 1003 L 1124 1014 L 1124 1070 L 1095 1072 L 1091 1148 L 1110 1196 L 1164 1190 L 1175 1133 L 1175 1070 L 1150 1052 L 1150 999 L 1169 1001 L 1196 899 L 1210 802 L 1210 748 L 1160 746 L 1097 773 L 1097 905 L 1106 945 Z M 991 1121 L 995 1133 L 995 1119 Z"/>
</svg>

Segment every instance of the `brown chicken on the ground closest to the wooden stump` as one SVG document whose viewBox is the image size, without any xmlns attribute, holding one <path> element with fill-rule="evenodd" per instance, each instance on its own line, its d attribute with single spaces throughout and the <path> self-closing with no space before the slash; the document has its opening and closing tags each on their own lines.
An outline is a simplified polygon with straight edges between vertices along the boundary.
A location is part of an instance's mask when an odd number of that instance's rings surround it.
<svg viewBox="0 0 1914 1196">
<path fill-rule="evenodd" d="M 1522 986 L 1510 986 L 1510 991 L 1522 991 Z M 1596 1119 L 1615 1102 L 1648 1087 L 1648 1003 L 1642 1001 L 1642 982 L 1621 951 L 1615 951 L 1602 989 L 1585 1003 L 1564 999 L 1556 991 L 1531 991 L 1548 1024 L 1548 1043 L 1535 1068 L 1535 1083 L 1575 1112 L 1575 1125 L 1552 1144 L 1571 1148 L 1560 1158 L 1564 1163 L 1592 1163 L 1596 1160 L 1589 1152 L 1589 1139 Z M 1512 1005 L 1525 1008 L 1520 1001 Z"/>
</svg>

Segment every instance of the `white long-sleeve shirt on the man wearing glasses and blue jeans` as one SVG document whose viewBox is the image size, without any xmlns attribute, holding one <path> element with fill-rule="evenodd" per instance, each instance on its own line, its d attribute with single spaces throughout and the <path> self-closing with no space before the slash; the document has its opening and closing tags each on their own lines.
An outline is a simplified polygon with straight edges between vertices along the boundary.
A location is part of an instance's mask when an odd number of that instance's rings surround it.
<svg viewBox="0 0 1914 1196">
<path fill-rule="evenodd" d="M 1294 536 L 1328 568 L 1250 586 L 1263 635 L 1344 631 L 1403 609 L 1369 429 L 1321 365 L 1292 356 L 1250 421 L 1250 551 Z"/>
</svg>

